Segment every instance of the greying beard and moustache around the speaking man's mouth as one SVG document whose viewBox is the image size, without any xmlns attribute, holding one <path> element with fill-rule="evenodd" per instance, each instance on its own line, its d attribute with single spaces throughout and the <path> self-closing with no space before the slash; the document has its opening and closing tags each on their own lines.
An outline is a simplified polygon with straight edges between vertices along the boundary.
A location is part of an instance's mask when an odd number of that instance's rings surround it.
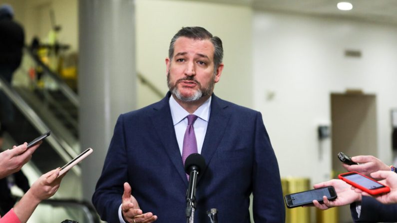
<svg viewBox="0 0 397 223">
<path fill-rule="evenodd" d="M 179 91 L 178 87 L 176 86 L 180 81 L 184 81 L 184 80 L 193 81 L 199 86 L 199 89 L 197 89 L 196 92 L 194 92 L 194 94 L 189 97 L 183 96 Z M 208 87 L 202 88 L 201 83 L 195 80 L 193 76 L 186 76 L 185 78 L 181 78 L 175 81 L 175 84 L 172 84 L 170 80 L 170 72 L 168 71 L 167 85 L 168 85 L 168 89 L 171 91 L 173 95 L 175 95 L 176 98 L 184 102 L 192 102 L 212 94 L 215 85 L 215 76 L 212 76 L 212 79 L 210 80 Z"/>
</svg>

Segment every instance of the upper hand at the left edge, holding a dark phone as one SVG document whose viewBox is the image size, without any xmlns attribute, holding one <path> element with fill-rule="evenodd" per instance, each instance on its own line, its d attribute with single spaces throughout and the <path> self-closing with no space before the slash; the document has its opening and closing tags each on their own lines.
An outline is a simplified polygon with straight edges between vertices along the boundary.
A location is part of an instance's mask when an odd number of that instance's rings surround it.
<svg viewBox="0 0 397 223">
<path fill-rule="evenodd" d="M 27 163 L 40 143 L 27 149 L 27 143 L 13 146 L 11 150 L 0 153 L 0 179 L 18 172 Z"/>
</svg>

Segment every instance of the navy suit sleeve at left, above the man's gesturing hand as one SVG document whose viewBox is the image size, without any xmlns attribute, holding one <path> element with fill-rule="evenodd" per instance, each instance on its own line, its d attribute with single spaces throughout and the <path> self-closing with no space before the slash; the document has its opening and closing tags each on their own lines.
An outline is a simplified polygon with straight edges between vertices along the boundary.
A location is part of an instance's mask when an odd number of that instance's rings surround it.
<svg viewBox="0 0 397 223">
<path fill-rule="evenodd" d="M 127 156 L 125 132 L 121 115 L 114 127 L 112 140 L 107 151 L 102 174 L 92 196 L 92 204 L 102 220 L 119 223 L 118 209 L 122 203 L 123 184 L 127 179 Z"/>
</svg>

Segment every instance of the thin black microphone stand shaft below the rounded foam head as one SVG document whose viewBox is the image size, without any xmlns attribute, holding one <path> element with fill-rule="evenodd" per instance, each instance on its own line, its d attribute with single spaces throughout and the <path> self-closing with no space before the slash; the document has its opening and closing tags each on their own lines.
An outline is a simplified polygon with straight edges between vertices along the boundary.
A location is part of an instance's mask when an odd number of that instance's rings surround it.
<svg viewBox="0 0 397 223">
<path fill-rule="evenodd" d="M 186 223 L 194 223 L 194 211 L 196 209 L 196 184 L 198 170 L 192 166 L 189 175 L 189 186 L 186 193 Z"/>
</svg>

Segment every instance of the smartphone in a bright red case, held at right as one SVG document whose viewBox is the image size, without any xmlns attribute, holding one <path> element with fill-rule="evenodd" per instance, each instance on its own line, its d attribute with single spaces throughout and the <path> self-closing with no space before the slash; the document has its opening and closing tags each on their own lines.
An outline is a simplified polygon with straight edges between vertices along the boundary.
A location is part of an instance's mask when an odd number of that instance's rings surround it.
<svg viewBox="0 0 397 223">
<path fill-rule="evenodd" d="M 346 183 L 365 191 L 370 195 L 379 195 L 390 192 L 390 188 L 388 186 L 357 172 L 340 174 L 338 177 Z"/>
</svg>

